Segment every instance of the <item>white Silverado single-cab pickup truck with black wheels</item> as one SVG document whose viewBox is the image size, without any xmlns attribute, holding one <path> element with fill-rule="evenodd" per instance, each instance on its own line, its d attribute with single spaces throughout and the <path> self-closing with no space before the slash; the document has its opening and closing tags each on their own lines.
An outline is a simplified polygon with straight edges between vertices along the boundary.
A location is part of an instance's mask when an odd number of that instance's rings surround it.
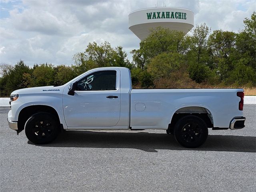
<svg viewBox="0 0 256 192">
<path fill-rule="evenodd" d="M 132 89 L 130 70 L 96 68 L 62 86 L 12 92 L 8 124 L 35 144 L 61 130 L 162 129 L 188 148 L 208 128 L 244 128 L 243 89 Z"/>
</svg>

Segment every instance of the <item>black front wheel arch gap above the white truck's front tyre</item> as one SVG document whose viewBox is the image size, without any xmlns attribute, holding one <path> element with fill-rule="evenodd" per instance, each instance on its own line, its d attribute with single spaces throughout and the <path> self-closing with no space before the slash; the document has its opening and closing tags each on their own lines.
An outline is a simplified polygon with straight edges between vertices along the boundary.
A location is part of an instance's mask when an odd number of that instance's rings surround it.
<svg viewBox="0 0 256 192">
<path fill-rule="evenodd" d="M 27 106 L 27 107 L 23 108 L 18 115 L 18 130 L 19 130 L 19 132 L 24 130 L 24 126 L 25 126 L 25 123 L 28 120 L 28 118 L 38 112 L 50 113 L 56 118 L 58 123 L 60 123 L 60 117 L 58 115 L 58 112 L 52 106 L 47 106 L 47 105 Z"/>
</svg>

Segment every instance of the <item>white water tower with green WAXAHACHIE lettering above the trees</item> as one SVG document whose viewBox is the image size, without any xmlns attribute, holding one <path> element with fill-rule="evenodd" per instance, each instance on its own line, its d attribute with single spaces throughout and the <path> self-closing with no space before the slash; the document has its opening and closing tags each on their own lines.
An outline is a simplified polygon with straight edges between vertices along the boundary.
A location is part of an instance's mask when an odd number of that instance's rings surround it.
<svg viewBox="0 0 256 192">
<path fill-rule="evenodd" d="M 158 26 L 187 34 L 194 27 L 194 13 L 185 8 L 154 7 L 129 14 L 129 29 L 140 40 L 148 37 L 151 28 Z"/>
</svg>

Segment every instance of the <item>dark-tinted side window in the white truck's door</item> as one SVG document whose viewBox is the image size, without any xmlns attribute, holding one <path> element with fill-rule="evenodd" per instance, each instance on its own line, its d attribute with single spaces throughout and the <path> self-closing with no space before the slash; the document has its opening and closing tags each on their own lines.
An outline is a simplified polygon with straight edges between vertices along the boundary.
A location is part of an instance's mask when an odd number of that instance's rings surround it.
<svg viewBox="0 0 256 192">
<path fill-rule="evenodd" d="M 116 71 L 97 71 L 77 82 L 78 91 L 116 90 Z"/>
</svg>

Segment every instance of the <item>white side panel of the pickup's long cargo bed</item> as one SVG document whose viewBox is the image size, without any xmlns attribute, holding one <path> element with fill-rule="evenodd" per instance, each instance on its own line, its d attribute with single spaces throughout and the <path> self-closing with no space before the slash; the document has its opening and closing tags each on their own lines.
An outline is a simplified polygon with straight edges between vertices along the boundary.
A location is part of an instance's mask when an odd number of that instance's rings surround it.
<svg viewBox="0 0 256 192">
<path fill-rule="evenodd" d="M 167 129 L 180 109 L 202 106 L 213 117 L 214 127 L 228 128 L 238 109 L 237 92 L 243 89 L 132 89 L 130 126 L 133 129 Z M 178 111 L 180 110 L 180 111 Z M 169 114 L 169 115 L 166 115 Z"/>
</svg>

